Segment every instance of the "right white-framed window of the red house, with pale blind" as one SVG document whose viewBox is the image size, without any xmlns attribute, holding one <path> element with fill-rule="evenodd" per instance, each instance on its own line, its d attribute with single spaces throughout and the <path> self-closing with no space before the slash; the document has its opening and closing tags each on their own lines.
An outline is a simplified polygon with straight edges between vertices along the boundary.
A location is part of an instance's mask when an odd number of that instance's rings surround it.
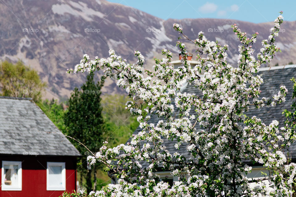
<svg viewBox="0 0 296 197">
<path fill-rule="evenodd" d="M 66 190 L 66 169 L 64 162 L 47 162 L 46 189 Z"/>
</svg>

